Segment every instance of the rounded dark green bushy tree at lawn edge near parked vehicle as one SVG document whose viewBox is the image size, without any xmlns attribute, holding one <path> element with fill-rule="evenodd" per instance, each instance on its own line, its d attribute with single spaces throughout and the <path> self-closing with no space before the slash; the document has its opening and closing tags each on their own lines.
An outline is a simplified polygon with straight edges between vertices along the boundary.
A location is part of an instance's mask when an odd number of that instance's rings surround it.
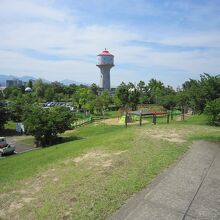
<svg viewBox="0 0 220 220">
<path fill-rule="evenodd" d="M 23 117 L 25 130 L 35 138 L 36 146 L 48 146 L 57 140 L 57 134 L 70 128 L 72 114 L 65 107 L 29 107 Z"/>
</svg>

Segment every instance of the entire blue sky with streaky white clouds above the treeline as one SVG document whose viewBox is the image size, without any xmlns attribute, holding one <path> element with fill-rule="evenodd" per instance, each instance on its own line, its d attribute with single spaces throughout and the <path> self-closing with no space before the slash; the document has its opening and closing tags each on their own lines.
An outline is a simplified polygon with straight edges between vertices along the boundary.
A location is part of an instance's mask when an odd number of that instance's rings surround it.
<svg viewBox="0 0 220 220">
<path fill-rule="evenodd" d="M 104 48 L 113 86 L 220 72 L 219 0 L 0 0 L 0 33 L 0 74 L 98 84 Z"/>
</svg>

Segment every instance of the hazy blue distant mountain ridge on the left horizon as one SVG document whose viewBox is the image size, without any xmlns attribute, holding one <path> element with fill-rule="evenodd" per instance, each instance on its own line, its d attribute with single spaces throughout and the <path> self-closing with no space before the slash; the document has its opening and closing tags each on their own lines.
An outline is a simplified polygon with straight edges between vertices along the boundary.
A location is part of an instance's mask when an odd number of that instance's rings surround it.
<svg viewBox="0 0 220 220">
<path fill-rule="evenodd" d="M 37 78 L 33 77 L 33 76 L 14 76 L 14 75 L 0 75 L 0 86 L 5 86 L 6 85 L 6 80 L 13 80 L 13 79 L 18 79 L 18 80 L 22 80 L 23 82 L 28 82 L 29 80 L 37 80 Z M 44 82 L 50 83 L 51 81 L 49 80 L 45 80 L 42 79 Z M 59 81 L 60 83 L 68 86 L 70 84 L 76 84 L 76 85 L 86 85 L 85 83 L 81 83 L 81 82 L 77 82 L 74 80 L 70 80 L 70 79 L 64 79 Z"/>
</svg>

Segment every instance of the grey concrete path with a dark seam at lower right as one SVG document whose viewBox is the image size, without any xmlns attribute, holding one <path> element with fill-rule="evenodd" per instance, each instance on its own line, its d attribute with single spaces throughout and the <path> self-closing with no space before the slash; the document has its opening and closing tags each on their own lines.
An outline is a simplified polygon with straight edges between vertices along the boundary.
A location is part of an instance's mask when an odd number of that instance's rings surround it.
<svg viewBox="0 0 220 220">
<path fill-rule="evenodd" d="M 186 155 L 111 220 L 219 220 L 220 146 L 197 141 Z"/>
</svg>

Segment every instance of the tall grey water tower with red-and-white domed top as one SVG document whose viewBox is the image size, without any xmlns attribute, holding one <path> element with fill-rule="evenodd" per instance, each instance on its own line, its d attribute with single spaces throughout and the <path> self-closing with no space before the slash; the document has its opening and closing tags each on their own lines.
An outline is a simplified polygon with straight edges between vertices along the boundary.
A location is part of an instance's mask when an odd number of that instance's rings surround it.
<svg viewBox="0 0 220 220">
<path fill-rule="evenodd" d="M 100 87 L 110 89 L 110 69 L 114 66 L 114 56 L 106 49 L 97 55 L 97 64 L 101 71 Z"/>
</svg>

